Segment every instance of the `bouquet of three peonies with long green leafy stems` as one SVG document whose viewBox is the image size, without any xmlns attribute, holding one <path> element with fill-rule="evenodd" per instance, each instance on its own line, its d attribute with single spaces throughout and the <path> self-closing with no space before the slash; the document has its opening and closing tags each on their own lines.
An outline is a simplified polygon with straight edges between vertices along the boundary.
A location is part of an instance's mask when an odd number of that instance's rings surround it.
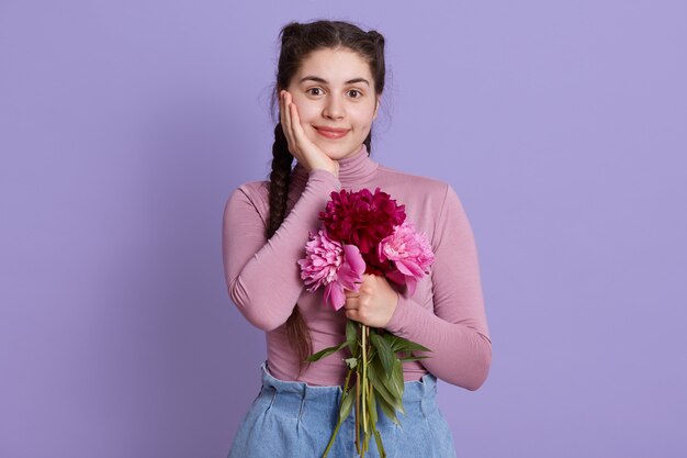
<svg viewBox="0 0 687 458">
<path fill-rule="evenodd" d="M 359 290 L 363 273 L 384 276 L 393 283 L 406 286 L 413 294 L 418 279 L 429 273 L 433 253 L 426 235 L 418 234 L 413 224 L 405 221 L 405 205 L 397 205 L 380 188 L 374 193 L 364 188 L 357 192 L 333 191 L 330 197 L 326 210 L 319 212 L 324 227 L 316 234 L 308 234 L 305 257 L 297 261 L 307 290 L 313 292 L 324 286 L 325 304 L 335 311 L 346 303 L 345 290 Z M 402 364 L 426 358 L 413 351 L 429 349 L 349 320 L 346 340 L 309 356 L 308 360 L 317 361 L 344 348 L 348 348 L 350 358 L 345 359 L 348 373 L 339 421 L 323 458 L 352 409 L 356 410 L 358 454 L 364 456 L 374 436 L 380 456 L 385 457 L 382 437 L 375 427 L 376 406 L 398 424 L 396 411 L 405 413 Z M 356 380 L 351 383 L 353 372 Z"/>
</svg>

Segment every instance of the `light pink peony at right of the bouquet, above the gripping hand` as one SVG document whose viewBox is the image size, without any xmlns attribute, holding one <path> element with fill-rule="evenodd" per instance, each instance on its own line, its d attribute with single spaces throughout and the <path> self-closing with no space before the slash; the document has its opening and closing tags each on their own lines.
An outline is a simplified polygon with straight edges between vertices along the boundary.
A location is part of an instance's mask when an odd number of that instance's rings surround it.
<svg viewBox="0 0 687 458">
<path fill-rule="evenodd" d="M 381 261 L 393 261 L 395 269 L 386 272 L 386 278 L 408 287 L 415 293 L 417 280 L 429 273 L 435 260 L 431 245 L 425 234 L 418 234 L 410 222 L 396 226 L 394 233 L 380 242 L 378 256 Z"/>
</svg>

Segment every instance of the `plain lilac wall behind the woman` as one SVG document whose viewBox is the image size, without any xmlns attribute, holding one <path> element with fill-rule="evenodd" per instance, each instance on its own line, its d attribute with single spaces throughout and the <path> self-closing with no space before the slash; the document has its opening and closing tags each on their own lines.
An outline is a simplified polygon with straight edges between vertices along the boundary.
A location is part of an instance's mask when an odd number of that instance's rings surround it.
<svg viewBox="0 0 687 458">
<path fill-rule="evenodd" d="M 687 456 L 687 8 L 656 0 L 2 0 L 0 456 L 226 456 L 264 342 L 222 212 L 269 171 L 279 27 L 319 18 L 385 35 L 373 157 L 475 232 L 459 456 Z"/>
</svg>

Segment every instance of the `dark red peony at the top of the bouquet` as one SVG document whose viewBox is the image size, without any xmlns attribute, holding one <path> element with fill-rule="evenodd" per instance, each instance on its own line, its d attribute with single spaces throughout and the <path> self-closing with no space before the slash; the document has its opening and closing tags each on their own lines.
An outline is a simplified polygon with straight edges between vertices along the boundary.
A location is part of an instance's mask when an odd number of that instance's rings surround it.
<svg viewBox="0 0 687 458">
<path fill-rule="evenodd" d="M 368 273 L 381 273 L 386 262 L 380 262 L 376 246 L 382 238 L 393 234 L 394 227 L 406 219 L 405 205 L 397 205 L 394 199 L 380 188 L 371 193 L 369 189 L 352 192 L 346 189 L 333 191 L 319 219 L 329 237 L 344 244 L 356 245 L 360 249 Z"/>
</svg>

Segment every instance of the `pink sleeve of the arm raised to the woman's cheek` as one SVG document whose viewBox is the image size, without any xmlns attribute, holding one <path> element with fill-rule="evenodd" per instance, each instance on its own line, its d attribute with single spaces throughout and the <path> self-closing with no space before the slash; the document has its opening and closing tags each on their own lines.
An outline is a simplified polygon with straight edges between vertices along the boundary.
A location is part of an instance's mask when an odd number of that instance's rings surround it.
<svg viewBox="0 0 687 458">
<path fill-rule="evenodd" d="M 341 183 L 327 170 L 314 169 L 297 202 L 268 241 L 266 223 L 249 188 L 234 190 L 224 210 L 222 252 L 229 295 L 255 326 L 272 331 L 291 315 L 303 291 L 297 259 L 308 231 L 319 227 L 318 214 Z M 266 216 L 267 219 L 267 216 Z"/>
</svg>

